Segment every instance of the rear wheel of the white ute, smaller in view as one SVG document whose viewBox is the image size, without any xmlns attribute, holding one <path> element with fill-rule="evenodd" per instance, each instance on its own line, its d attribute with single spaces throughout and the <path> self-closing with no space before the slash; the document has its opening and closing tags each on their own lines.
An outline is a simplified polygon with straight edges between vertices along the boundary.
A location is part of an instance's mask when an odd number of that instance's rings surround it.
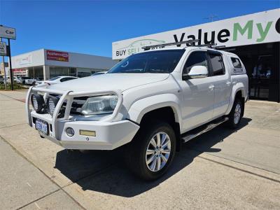
<svg viewBox="0 0 280 210">
<path fill-rule="evenodd" d="M 228 126 L 232 129 L 235 129 L 240 124 L 240 120 L 244 113 L 244 104 L 241 99 L 235 99 L 235 103 L 232 106 L 232 110 L 229 114 Z"/>
</svg>

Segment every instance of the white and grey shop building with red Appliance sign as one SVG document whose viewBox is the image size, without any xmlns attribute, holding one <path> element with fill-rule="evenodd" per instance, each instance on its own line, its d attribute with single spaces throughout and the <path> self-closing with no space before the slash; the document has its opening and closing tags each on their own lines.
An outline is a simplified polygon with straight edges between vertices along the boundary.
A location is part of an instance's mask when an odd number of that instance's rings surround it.
<svg viewBox="0 0 280 210">
<path fill-rule="evenodd" d="M 38 80 L 55 76 L 90 76 L 92 73 L 107 71 L 114 64 L 116 61 L 111 57 L 45 49 L 12 57 L 14 76 L 29 76 Z"/>
</svg>

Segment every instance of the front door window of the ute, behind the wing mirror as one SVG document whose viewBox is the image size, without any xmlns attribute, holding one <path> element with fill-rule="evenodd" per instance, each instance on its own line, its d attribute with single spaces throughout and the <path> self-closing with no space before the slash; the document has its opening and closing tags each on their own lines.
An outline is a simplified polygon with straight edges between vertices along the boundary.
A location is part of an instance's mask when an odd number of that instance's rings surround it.
<svg viewBox="0 0 280 210">
<path fill-rule="evenodd" d="M 193 66 L 206 66 L 207 64 L 207 53 L 206 52 L 192 52 L 187 59 L 187 62 L 183 68 L 183 74 L 189 73 Z"/>
</svg>

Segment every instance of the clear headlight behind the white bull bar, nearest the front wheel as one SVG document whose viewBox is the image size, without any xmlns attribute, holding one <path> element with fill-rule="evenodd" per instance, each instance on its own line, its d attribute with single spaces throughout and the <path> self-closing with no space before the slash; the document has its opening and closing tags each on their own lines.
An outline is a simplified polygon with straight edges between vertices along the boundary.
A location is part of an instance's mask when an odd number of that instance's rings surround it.
<svg viewBox="0 0 280 210">
<path fill-rule="evenodd" d="M 83 113 L 85 116 L 99 113 L 112 113 L 117 103 L 118 97 L 116 95 L 89 97 L 80 108 L 80 113 Z"/>
</svg>

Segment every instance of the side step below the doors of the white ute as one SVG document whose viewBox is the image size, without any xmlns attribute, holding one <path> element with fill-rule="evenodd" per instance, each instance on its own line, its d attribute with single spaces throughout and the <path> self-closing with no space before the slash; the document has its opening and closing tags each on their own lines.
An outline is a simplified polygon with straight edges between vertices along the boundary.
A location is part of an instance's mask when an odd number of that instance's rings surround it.
<svg viewBox="0 0 280 210">
<path fill-rule="evenodd" d="M 211 123 L 202 125 L 200 127 L 195 128 L 194 130 L 191 130 L 189 132 L 186 132 L 185 134 L 182 134 L 183 143 L 186 143 L 187 141 L 190 141 L 190 139 L 193 139 L 197 136 L 200 136 L 201 134 L 204 134 L 205 132 L 208 132 L 209 130 L 214 129 L 214 127 L 217 127 L 218 125 L 220 125 L 222 123 L 225 123 L 225 121 L 228 121 L 228 117 L 211 121 Z"/>
</svg>

